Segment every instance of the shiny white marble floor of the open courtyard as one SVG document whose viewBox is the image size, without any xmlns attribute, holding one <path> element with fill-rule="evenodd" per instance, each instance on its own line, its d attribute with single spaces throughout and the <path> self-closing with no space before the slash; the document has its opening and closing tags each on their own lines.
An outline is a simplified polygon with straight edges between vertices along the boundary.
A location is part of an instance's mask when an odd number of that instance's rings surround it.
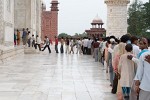
<svg viewBox="0 0 150 100">
<path fill-rule="evenodd" d="M 0 100 L 116 100 L 91 56 L 22 55 L 0 65 Z"/>
</svg>

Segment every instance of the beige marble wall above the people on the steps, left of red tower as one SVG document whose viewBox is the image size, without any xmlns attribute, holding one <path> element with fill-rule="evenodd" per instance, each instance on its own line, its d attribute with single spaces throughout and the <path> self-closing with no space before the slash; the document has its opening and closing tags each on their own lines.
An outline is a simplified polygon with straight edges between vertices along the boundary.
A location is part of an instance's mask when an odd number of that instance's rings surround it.
<svg viewBox="0 0 150 100">
<path fill-rule="evenodd" d="M 15 29 L 29 28 L 32 34 L 41 32 L 41 0 L 15 0 Z"/>
</svg>

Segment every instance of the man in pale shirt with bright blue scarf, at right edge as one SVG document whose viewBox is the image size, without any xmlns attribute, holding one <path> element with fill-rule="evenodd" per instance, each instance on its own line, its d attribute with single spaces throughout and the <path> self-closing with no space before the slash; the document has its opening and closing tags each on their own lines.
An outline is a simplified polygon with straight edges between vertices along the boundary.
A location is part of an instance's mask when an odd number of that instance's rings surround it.
<svg viewBox="0 0 150 100">
<path fill-rule="evenodd" d="M 150 55 L 148 41 L 145 38 L 140 40 L 139 64 L 135 76 L 136 91 L 139 93 L 139 100 L 150 100 L 150 63 L 145 59 Z"/>
</svg>

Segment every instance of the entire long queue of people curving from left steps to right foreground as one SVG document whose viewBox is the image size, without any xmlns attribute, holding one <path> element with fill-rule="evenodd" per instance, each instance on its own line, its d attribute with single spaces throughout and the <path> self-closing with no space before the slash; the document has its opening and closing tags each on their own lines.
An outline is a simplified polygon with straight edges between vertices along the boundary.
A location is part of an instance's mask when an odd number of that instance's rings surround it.
<svg viewBox="0 0 150 100">
<path fill-rule="evenodd" d="M 18 30 L 17 30 L 18 32 Z M 39 47 L 39 51 L 50 49 L 50 40 L 45 36 L 41 50 L 41 40 L 37 35 L 29 36 L 28 29 L 23 29 L 23 44 Z M 19 39 L 20 40 L 20 39 Z M 18 44 L 20 44 L 17 40 Z M 60 50 L 58 44 L 60 41 Z M 75 49 L 76 48 L 76 52 Z M 101 62 L 109 74 L 111 93 L 117 94 L 118 100 L 150 100 L 150 39 L 123 35 L 106 38 L 61 38 L 55 37 L 56 53 L 93 55 L 95 62 Z"/>
</svg>

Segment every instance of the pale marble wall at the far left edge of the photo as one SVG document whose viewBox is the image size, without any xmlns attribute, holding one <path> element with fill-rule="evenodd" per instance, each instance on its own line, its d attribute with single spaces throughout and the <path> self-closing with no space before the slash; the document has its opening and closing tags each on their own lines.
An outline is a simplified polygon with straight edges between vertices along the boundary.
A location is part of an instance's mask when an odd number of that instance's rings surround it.
<svg viewBox="0 0 150 100">
<path fill-rule="evenodd" d="M 14 0 L 0 0 L 0 49 L 13 48 Z"/>
</svg>

